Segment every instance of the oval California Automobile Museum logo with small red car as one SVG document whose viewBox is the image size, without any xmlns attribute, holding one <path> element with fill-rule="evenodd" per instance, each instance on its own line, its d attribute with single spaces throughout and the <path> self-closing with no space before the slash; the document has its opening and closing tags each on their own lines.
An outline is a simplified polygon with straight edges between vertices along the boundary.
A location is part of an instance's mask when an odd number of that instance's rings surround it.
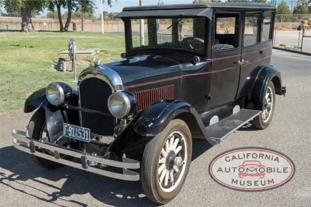
<svg viewBox="0 0 311 207">
<path fill-rule="evenodd" d="M 293 161 L 271 149 L 243 147 L 216 156 L 208 167 L 219 184 L 234 190 L 261 191 L 279 187 L 294 176 Z"/>
</svg>

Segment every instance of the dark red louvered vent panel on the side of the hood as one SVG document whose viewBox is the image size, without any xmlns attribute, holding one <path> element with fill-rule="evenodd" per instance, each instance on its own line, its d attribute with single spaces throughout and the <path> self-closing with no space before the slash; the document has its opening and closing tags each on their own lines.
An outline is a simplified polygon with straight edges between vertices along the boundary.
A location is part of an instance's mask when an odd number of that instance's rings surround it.
<svg viewBox="0 0 311 207">
<path fill-rule="evenodd" d="M 137 110 L 142 110 L 148 105 L 161 99 L 173 99 L 174 98 L 174 85 L 162 86 L 152 88 L 149 90 L 141 90 L 136 92 L 137 97 Z"/>
</svg>

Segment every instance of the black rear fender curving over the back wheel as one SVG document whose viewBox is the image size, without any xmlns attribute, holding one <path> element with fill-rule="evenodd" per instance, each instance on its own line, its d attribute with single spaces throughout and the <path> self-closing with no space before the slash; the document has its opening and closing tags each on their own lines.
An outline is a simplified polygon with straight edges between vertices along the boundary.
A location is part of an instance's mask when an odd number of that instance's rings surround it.
<svg viewBox="0 0 311 207">
<path fill-rule="evenodd" d="M 263 109 L 265 90 L 270 81 L 272 81 L 275 86 L 276 94 L 282 95 L 282 79 L 280 72 L 273 66 L 265 66 L 259 71 L 249 97 L 250 103 L 254 104 L 254 109 Z"/>
</svg>

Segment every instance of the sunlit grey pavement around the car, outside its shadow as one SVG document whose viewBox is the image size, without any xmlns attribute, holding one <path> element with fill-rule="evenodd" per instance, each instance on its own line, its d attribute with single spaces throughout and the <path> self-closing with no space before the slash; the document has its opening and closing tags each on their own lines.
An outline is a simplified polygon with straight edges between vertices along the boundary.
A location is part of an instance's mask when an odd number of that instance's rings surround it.
<svg viewBox="0 0 311 207">
<path fill-rule="evenodd" d="M 195 141 L 184 188 L 167 206 L 310 206 L 310 57 L 274 50 L 272 64 L 281 70 L 288 92 L 286 97 L 277 96 L 270 127 L 239 130 L 213 147 Z M 139 182 L 110 179 L 70 167 L 54 171 L 37 167 L 11 144 L 11 129 L 23 129 L 30 116 L 19 113 L 0 118 L 0 206 L 154 206 Z M 263 192 L 230 190 L 213 181 L 207 171 L 209 162 L 224 151 L 244 146 L 267 147 L 288 155 L 296 166 L 293 179 Z"/>
</svg>

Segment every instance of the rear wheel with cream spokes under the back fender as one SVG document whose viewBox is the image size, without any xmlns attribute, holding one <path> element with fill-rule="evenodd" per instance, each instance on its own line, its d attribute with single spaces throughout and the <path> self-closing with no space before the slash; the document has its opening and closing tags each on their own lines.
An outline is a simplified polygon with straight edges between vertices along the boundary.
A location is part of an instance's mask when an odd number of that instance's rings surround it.
<svg viewBox="0 0 311 207">
<path fill-rule="evenodd" d="M 268 98 L 266 98 L 267 96 L 268 96 Z M 269 99 L 270 99 L 270 101 L 269 101 Z M 274 109 L 275 109 L 275 105 L 276 105 L 276 91 L 275 91 L 275 87 L 271 81 L 269 82 L 269 84 L 266 88 L 265 98 L 262 101 L 263 101 L 263 103 L 262 103 L 263 111 L 261 114 L 259 114 L 258 117 L 256 117 L 254 119 L 253 123 L 254 123 L 255 127 L 259 128 L 259 129 L 266 129 L 272 121 L 272 117 L 273 117 Z M 269 103 L 271 103 L 271 104 L 269 104 Z M 266 114 L 266 112 L 265 112 L 266 110 L 268 111 L 268 114 L 266 116 L 264 116 L 264 113 Z"/>
</svg>

